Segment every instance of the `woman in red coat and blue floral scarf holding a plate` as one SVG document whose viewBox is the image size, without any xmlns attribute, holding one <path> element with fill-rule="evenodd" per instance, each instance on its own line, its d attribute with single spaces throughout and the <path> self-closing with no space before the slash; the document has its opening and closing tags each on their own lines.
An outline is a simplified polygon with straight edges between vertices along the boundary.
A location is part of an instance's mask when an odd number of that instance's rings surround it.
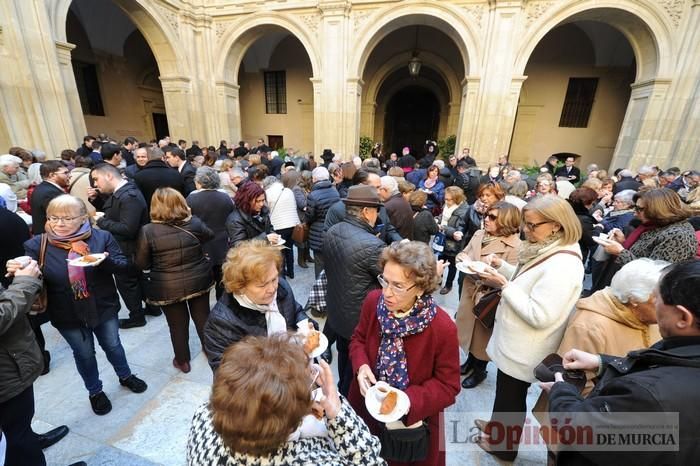
<svg viewBox="0 0 700 466">
<path fill-rule="evenodd" d="M 350 343 L 357 374 L 350 404 L 376 434 L 380 424 L 365 408 L 367 389 L 382 380 L 403 390 L 410 409 L 402 422 L 409 427 L 427 422 L 430 430 L 427 457 L 411 464 L 444 465 L 440 415 L 459 393 L 459 347 L 452 318 L 431 295 L 441 273 L 430 247 L 417 241 L 393 243 L 383 251 L 379 265 L 382 290 L 365 298 Z"/>
</svg>

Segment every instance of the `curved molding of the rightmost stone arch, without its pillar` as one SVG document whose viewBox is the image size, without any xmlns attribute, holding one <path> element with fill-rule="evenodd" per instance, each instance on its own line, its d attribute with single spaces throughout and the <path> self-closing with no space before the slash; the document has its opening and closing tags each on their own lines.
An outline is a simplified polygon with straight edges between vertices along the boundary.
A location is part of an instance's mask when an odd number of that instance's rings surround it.
<svg viewBox="0 0 700 466">
<path fill-rule="evenodd" d="M 516 53 L 514 75 L 525 73 L 532 52 L 547 33 L 580 20 L 606 23 L 627 38 L 635 55 L 637 82 L 671 74 L 675 49 L 672 24 L 658 4 L 648 0 L 584 0 L 552 8 L 530 25 Z"/>
</svg>

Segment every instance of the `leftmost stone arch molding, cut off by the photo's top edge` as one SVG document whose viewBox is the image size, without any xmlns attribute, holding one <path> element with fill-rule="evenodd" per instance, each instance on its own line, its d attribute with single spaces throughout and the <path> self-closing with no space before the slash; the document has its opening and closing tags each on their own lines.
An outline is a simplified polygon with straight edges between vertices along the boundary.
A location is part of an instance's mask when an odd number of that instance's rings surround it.
<svg viewBox="0 0 700 466">
<path fill-rule="evenodd" d="M 67 42 L 66 21 L 68 10 L 73 0 L 49 0 L 49 15 L 53 25 L 54 38 L 57 42 Z M 170 10 L 156 6 L 159 2 L 148 0 L 110 0 L 134 22 L 143 34 L 153 56 L 158 63 L 161 77 L 189 76 L 187 60 L 182 47 L 177 47 L 176 29 L 162 27 L 171 24 L 166 15 Z M 171 15 L 172 16 L 172 15 Z"/>
</svg>

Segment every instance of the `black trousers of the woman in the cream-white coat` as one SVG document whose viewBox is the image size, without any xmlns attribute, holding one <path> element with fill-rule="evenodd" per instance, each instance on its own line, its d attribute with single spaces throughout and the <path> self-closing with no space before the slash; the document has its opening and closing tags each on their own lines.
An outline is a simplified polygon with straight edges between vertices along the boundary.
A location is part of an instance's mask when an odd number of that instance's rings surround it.
<svg viewBox="0 0 700 466">
<path fill-rule="evenodd" d="M 501 458 L 508 461 L 513 461 L 518 456 L 518 444 L 527 414 L 528 388 L 530 388 L 529 382 L 523 382 L 501 370 L 498 371 L 496 399 L 493 401 L 493 413 L 486 433 L 494 441 L 491 449 L 504 454 Z M 501 432 L 505 434 L 502 435 L 503 440 L 498 442 Z"/>
</svg>

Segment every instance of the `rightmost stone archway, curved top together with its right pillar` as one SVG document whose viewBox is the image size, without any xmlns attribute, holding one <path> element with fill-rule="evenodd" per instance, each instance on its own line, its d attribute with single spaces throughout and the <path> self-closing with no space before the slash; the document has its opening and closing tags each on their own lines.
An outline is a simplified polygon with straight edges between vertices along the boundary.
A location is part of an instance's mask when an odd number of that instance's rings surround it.
<svg viewBox="0 0 700 466">
<path fill-rule="evenodd" d="M 658 134 L 660 102 L 665 99 L 670 85 L 666 76 L 671 74 L 673 66 L 673 40 L 670 24 L 656 8 L 629 0 L 588 0 L 563 5 L 548 11 L 531 25 L 516 54 L 514 73 L 524 73 L 543 38 L 556 27 L 569 23 L 604 23 L 625 37 L 634 54 L 636 74 L 610 161 L 611 168 L 628 166 L 633 158 L 639 165 L 652 159 L 654 164 L 663 164 L 654 148 L 658 139 L 663 139 Z"/>
</svg>

